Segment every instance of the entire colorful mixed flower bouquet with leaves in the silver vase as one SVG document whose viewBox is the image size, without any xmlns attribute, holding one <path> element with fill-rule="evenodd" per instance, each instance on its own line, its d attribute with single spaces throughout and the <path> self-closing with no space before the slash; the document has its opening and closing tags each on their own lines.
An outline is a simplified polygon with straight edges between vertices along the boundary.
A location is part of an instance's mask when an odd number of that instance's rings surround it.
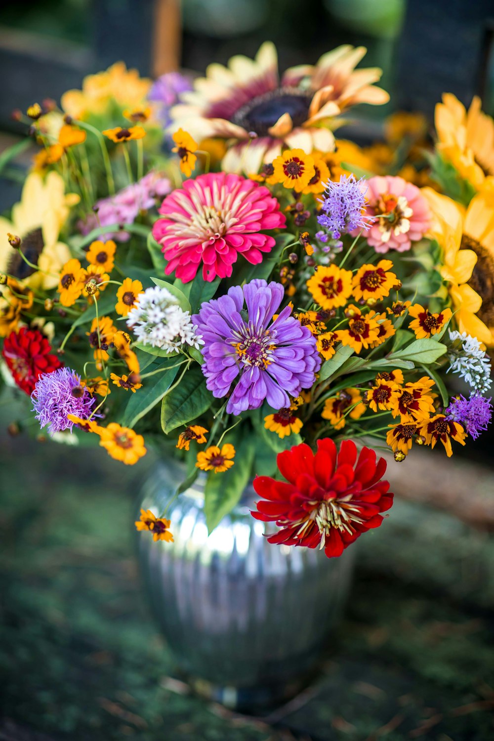
<svg viewBox="0 0 494 741">
<path fill-rule="evenodd" d="M 253 479 L 270 542 L 340 556 L 393 504 L 376 451 L 487 428 L 493 120 L 444 96 L 433 147 L 411 114 L 335 139 L 387 102 L 364 53 L 281 79 L 272 44 L 194 81 L 115 64 L 15 113 L 39 150 L 0 222 L 0 334 L 27 429 L 182 459 L 209 531 Z M 136 528 L 173 548 L 166 509 Z"/>
</svg>

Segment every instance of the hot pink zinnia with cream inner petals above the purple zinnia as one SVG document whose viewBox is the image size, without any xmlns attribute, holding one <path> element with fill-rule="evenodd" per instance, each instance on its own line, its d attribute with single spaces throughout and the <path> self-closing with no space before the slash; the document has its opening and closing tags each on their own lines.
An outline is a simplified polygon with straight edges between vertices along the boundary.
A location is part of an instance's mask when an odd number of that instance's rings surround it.
<svg viewBox="0 0 494 741">
<path fill-rule="evenodd" d="M 153 236 L 184 283 L 202 276 L 212 281 L 231 276 L 238 254 L 257 265 L 275 244 L 264 229 L 283 228 L 285 217 L 267 187 L 240 175 L 210 173 L 186 180 L 164 199 Z"/>
</svg>

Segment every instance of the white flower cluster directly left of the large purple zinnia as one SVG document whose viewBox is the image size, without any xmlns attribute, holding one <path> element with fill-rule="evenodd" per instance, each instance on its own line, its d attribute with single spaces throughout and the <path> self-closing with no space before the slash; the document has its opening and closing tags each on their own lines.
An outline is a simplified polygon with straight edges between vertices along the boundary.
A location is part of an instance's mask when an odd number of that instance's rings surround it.
<svg viewBox="0 0 494 741">
<path fill-rule="evenodd" d="M 138 342 L 173 353 L 181 345 L 192 345 L 197 350 L 204 345 L 196 334 L 188 311 L 182 310 L 177 299 L 167 288 L 147 288 L 138 297 L 137 305 L 127 314 L 127 327 L 133 330 Z"/>
</svg>

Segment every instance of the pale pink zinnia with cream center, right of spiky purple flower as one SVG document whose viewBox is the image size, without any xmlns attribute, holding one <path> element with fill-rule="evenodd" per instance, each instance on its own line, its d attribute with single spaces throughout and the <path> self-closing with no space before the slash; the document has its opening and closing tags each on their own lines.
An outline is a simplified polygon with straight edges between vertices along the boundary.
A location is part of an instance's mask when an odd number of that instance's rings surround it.
<svg viewBox="0 0 494 741">
<path fill-rule="evenodd" d="M 416 185 L 391 175 L 370 178 L 367 185 L 366 215 L 374 217 L 365 235 L 367 242 L 376 252 L 410 250 L 430 226 L 424 196 Z"/>
</svg>

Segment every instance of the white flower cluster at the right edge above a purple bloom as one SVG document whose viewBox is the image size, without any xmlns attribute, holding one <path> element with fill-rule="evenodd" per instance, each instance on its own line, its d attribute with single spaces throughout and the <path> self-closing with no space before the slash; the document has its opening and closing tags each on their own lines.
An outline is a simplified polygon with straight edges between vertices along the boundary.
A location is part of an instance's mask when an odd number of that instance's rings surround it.
<svg viewBox="0 0 494 741">
<path fill-rule="evenodd" d="M 481 343 L 476 337 L 456 330 L 450 330 L 450 340 L 448 372 L 458 373 L 477 393 L 486 393 L 493 381 L 490 377 L 490 360 L 481 349 Z"/>
</svg>

